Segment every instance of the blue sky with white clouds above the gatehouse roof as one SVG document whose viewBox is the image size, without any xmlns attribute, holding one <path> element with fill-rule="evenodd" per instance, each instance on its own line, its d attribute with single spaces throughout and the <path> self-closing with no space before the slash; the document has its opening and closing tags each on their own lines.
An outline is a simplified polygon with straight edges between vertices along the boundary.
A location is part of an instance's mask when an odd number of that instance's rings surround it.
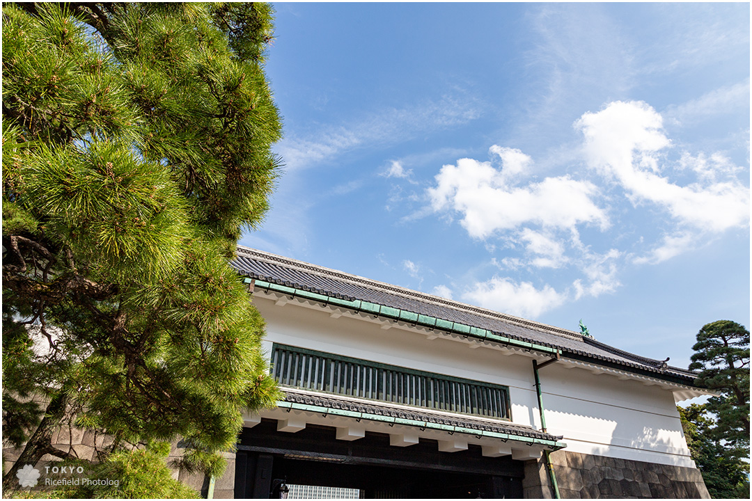
<svg viewBox="0 0 752 501">
<path fill-rule="evenodd" d="M 687 367 L 750 325 L 750 7 L 277 3 L 241 244 Z"/>
</svg>

